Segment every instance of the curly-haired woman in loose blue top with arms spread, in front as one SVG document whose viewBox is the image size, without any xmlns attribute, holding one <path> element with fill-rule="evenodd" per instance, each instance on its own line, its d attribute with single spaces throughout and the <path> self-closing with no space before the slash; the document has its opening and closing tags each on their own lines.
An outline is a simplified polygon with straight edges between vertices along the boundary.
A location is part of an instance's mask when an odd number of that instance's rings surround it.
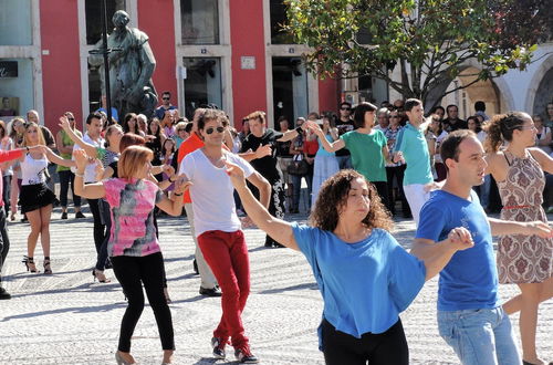
<svg viewBox="0 0 553 365">
<path fill-rule="evenodd" d="M 453 229 L 438 243 L 440 252 L 422 262 L 389 233 L 393 222 L 376 189 L 354 170 L 323 184 L 309 227 L 269 215 L 243 171 L 227 166 L 250 219 L 311 264 L 324 301 L 319 338 L 326 364 L 408 364 L 399 313 L 455 252 L 472 246 L 469 231 Z"/>
</svg>

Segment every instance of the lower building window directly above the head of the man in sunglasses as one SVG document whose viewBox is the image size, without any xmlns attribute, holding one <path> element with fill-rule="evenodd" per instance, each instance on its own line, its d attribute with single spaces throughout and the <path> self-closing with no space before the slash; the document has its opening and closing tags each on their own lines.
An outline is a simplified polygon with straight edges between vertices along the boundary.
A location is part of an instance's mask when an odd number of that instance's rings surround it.
<svg viewBox="0 0 553 365">
<path fill-rule="evenodd" d="M 222 108 L 221 60 L 208 58 L 184 58 L 185 113 L 191 121 L 194 111 L 208 104 Z"/>
</svg>

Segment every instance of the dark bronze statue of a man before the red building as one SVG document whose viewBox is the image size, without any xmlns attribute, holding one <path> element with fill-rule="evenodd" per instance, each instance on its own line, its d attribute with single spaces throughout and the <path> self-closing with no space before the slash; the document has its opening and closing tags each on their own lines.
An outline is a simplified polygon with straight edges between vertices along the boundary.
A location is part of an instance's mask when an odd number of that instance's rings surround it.
<svg viewBox="0 0 553 365">
<path fill-rule="evenodd" d="M 152 82 L 156 59 L 146 33 L 128 28 L 129 20 L 125 11 L 117 10 L 112 18 L 115 29 L 107 36 L 107 48 L 119 49 L 112 51 L 108 60 L 111 102 L 122 118 L 127 113 L 152 116 L 157 104 L 157 93 Z M 102 43 L 100 40 L 96 48 L 101 48 Z M 91 55 L 88 61 L 92 65 L 104 65 L 102 54 Z"/>
</svg>

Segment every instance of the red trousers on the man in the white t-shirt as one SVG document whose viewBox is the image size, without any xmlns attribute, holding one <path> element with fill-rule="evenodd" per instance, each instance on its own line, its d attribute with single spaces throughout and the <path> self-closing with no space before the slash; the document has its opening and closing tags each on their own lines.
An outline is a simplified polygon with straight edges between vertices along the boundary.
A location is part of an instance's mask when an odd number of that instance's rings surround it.
<svg viewBox="0 0 553 365">
<path fill-rule="evenodd" d="M 243 232 L 207 231 L 198 236 L 198 246 L 222 291 L 222 316 L 213 337 L 239 348 L 248 344 L 241 314 L 250 294 L 250 261 Z"/>
</svg>

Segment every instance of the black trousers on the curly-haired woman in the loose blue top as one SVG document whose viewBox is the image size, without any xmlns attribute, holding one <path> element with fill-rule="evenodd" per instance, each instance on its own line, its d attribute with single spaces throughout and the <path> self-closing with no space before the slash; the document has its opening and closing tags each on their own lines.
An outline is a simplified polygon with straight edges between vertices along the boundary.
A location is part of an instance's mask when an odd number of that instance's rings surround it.
<svg viewBox="0 0 553 365">
<path fill-rule="evenodd" d="M 401 320 L 379 334 L 365 333 L 361 338 L 336 331 L 323 320 L 324 361 L 327 365 L 408 365 L 409 348 Z"/>
</svg>

